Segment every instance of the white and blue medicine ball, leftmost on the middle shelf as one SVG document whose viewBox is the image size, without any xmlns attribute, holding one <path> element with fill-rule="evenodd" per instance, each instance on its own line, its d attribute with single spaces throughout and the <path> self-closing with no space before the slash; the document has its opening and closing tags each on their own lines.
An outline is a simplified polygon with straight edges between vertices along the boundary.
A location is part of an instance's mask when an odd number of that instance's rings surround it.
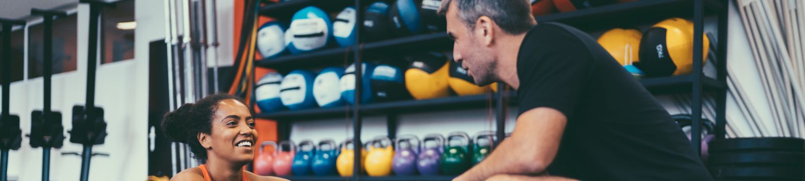
<svg viewBox="0 0 805 181">
<path fill-rule="evenodd" d="M 279 98 L 281 82 L 283 82 L 283 75 L 278 72 L 269 72 L 257 82 L 257 88 L 254 88 L 254 98 L 257 99 L 257 106 L 263 113 L 284 108 L 283 101 Z"/>
</svg>

